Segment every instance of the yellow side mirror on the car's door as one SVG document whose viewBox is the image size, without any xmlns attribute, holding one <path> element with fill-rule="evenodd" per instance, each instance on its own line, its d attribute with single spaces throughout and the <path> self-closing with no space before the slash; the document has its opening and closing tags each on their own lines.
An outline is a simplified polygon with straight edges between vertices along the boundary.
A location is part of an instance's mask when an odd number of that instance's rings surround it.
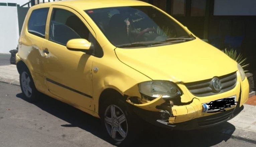
<svg viewBox="0 0 256 147">
<path fill-rule="evenodd" d="M 90 49 L 92 43 L 86 39 L 71 39 L 67 43 L 67 48 L 74 51 L 86 52 Z"/>
</svg>

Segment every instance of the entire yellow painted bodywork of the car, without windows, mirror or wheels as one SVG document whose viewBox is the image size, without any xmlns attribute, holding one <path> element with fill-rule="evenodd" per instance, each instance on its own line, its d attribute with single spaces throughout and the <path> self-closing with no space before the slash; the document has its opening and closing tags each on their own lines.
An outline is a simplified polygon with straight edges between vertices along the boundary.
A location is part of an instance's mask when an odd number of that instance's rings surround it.
<svg viewBox="0 0 256 147">
<path fill-rule="evenodd" d="M 212 115 L 202 112 L 204 103 L 234 95 L 237 100 L 240 97 L 240 107 L 247 101 L 248 81 L 246 78 L 244 81 L 241 80 L 237 63 L 199 38 L 184 43 L 148 48 L 116 48 L 84 11 L 120 6 L 152 5 L 134 0 L 120 0 L 118 3 L 115 0 L 107 2 L 105 0 L 67 0 L 31 7 L 19 38 L 16 62 L 22 61 L 26 64 L 38 91 L 95 117 L 99 117 L 99 99 L 104 90 L 113 89 L 123 96 L 141 97 L 138 84 L 151 80 L 167 80 L 175 83 L 183 92 L 181 102 L 191 102 L 182 106 L 175 106 L 174 104 L 172 107 L 173 117 L 169 118 L 169 123 L 172 124 Z M 28 17 L 33 10 L 46 7 L 49 8 L 49 12 L 45 38 L 41 38 L 28 32 Z M 103 57 L 99 58 L 84 52 L 71 51 L 66 46 L 49 41 L 52 8 L 61 8 L 76 14 L 99 42 L 104 52 Z M 162 10 L 156 9 L 166 14 Z M 174 18 L 169 17 L 181 25 Z M 181 27 L 191 33 L 183 25 Z M 43 52 L 45 48 L 48 48 L 49 55 Z M 94 67 L 98 69 L 94 70 Z M 221 94 L 196 97 L 184 85 L 184 83 L 211 79 L 232 72 L 237 73 L 236 87 Z M 85 93 L 91 98 L 59 87 L 54 82 Z M 163 99 L 157 98 L 141 105 L 132 105 L 148 111 L 157 111 L 155 107 L 162 103 L 164 103 Z"/>
</svg>

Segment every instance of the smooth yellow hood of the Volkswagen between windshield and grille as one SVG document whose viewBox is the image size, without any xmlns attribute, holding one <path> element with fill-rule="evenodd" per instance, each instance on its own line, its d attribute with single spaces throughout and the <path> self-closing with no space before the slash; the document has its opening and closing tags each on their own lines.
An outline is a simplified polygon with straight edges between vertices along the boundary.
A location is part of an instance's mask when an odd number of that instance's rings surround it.
<svg viewBox="0 0 256 147">
<path fill-rule="evenodd" d="M 121 62 L 152 80 L 188 83 L 237 70 L 236 61 L 200 39 L 147 48 L 116 48 L 115 52 Z"/>
</svg>

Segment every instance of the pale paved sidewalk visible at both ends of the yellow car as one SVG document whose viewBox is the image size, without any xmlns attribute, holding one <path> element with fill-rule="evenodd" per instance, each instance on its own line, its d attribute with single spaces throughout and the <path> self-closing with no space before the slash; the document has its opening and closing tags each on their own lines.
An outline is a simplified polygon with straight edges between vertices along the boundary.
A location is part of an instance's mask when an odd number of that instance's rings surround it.
<svg viewBox="0 0 256 147">
<path fill-rule="evenodd" d="M 19 73 L 16 65 L 0 65 L 0 82 L 19 86 Z M 248 102 L 255 98 L 249 98 Z M 255 104 L 255 103 L 254 103 Z M 244 110 L 235 118 L 228 121 L 235 126 L 235 131 L 232 132 L 229 128 L 222 130 L 223 134 L 232 133 L 232 137 L 240 140 L 256 143 L 256 106 L 244 105 Z M 230 134 L 231 135 L 231 134 Z"/>
</svg>

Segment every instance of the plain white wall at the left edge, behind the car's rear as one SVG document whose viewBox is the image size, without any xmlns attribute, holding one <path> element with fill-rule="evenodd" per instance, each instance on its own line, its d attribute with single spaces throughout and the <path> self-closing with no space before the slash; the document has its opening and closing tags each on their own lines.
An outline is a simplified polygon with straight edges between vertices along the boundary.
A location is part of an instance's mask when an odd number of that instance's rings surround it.
<svg viewBox="0 0 256 147">
<path fill-rule="evenodd" d="M 17 7 L 0 6 L 0 53 L 9 53 L 18 45 Z"/>
</svg>

